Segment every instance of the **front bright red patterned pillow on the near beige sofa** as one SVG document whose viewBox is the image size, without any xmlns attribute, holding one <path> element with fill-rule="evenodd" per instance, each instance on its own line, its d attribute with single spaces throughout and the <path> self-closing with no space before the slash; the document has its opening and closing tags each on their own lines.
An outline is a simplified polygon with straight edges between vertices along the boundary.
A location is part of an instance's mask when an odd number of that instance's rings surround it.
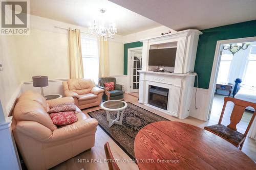
<svg viewBox="0 0 256 170">
<path fill-rule="evenodd" d="M 73 124 L 78 120 L 74 111 L 51 113 L 50 117 L 53 124 L 57 126 Z"/>
</svg>

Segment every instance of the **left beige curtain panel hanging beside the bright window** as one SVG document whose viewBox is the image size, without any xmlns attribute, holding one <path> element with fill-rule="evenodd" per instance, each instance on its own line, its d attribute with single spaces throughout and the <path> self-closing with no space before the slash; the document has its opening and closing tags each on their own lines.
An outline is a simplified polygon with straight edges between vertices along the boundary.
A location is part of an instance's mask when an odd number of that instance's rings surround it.
<svg viewBox="0 0 256 170">
<path fill-rule="evenodd" d="M 70 78 L 83 79 L 81 38 L 79 29 L 69 29 Z"/>
</svg>

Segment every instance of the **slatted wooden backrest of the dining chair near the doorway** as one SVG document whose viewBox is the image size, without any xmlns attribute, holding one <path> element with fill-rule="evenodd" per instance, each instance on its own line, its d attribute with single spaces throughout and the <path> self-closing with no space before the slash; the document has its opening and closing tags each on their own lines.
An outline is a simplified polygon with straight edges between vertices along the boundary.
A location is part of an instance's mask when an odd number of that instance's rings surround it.
<svg viewBox="0 0 256 170">
<path fill-rule="evenodd" d="M 246 136 L 249 129 L 250 129 L 250 126 L 251 126 L 251 124 L 254 120 L 255 114 L 256 114 L 256 111 L 255 111 L 256 110 L 256 103 L 247 102 L 247 101 L 243 101 L 243 100 L 235 99 L 235 98 L 225 97 L 224 98 L 224 105 L 223 105 L 220 120 L 219 120 L 219 124 L 221 124 L 222 117 L 223 117 L 227 102 L 229 102 L 229 101 L 233 102 L 234 107 L 233 107 L 233 110 L 232 110 L 232 113 L 231 113 L 231 116 L 230 116 L 230 124 L 227 127 L 231 128 L 233 130 L 237 130 L 237 124 L 242 119 L 245 108 L 248 107 L 248 106 L 254 108 L 254 113 L 253 113 L 253 115 L 251 117 L 251 120 L 248 124 L 248 127 L 247 127 L 247 129 L 244 133 L 244 135 Z"/>
</svg>

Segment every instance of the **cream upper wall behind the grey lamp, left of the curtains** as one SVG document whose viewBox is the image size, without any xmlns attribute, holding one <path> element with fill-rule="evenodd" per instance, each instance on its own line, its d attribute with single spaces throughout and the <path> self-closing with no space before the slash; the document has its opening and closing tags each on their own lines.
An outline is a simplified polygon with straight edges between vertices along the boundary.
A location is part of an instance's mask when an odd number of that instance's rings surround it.
<svg viewBox="0 0 256 170">
<path fill-rule="evenodd" d="M 30 29 L 30 35 L 19 36 L 17 43 L 22 81 L 39 75 L 49 80 L 69 78 L 67 34 Z"/>
</svg>

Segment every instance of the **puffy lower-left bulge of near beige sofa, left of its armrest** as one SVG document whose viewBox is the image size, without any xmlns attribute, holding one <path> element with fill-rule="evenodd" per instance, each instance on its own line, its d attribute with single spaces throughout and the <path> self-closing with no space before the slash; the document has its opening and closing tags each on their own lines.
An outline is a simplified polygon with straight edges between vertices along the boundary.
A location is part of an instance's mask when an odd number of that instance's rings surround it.
<svg viewBox="0 0 256 170">
<path fill-rule="evenodd" d="M 25 134 L 37 141 L 47 141 L 52 137 L 52 131 L 34 121 L 20 121 L 17 123 L 14 133 L 16 135 Z"/>
</svg>

